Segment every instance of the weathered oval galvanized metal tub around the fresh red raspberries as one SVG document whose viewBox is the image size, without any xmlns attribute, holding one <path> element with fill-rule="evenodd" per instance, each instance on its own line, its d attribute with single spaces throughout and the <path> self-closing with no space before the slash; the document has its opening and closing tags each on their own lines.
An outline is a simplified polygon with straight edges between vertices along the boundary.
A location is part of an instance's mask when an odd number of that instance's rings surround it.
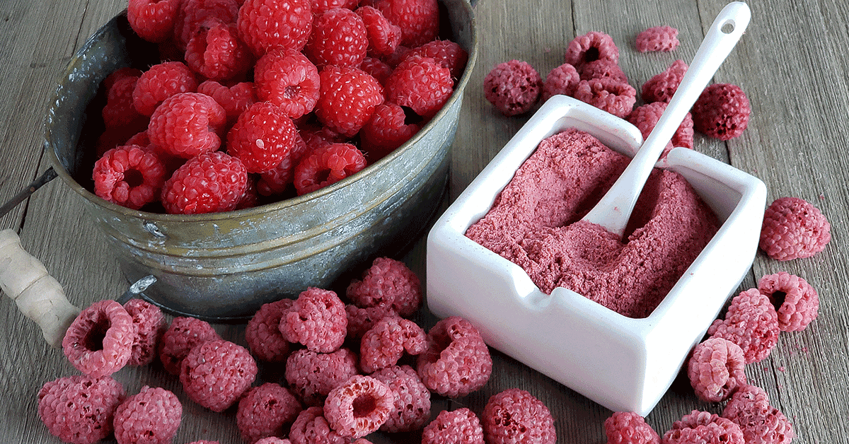
<svg viewBox="0 0 849 444">
<path fill-rule="evenodd" d="M 242 211 L 166 215 L 134 211 L 90 190 L 100 82 L 123 66 L 145 66 L 155 47 L 135 36 L 126 14 L 98 30 L 70 60 L 53 94 L 45 147 L 104 233 L 128 281 L 152 274 L 149 301 L 178 315 L 246 318 L 264 303 L 330 288 L 375 256 L 414 240 L 439 207 L 463 92 L 477 57 L 467 0 L 441 0 L 451 39 L 469 52 L 453 96 L 411 140 L 346 179 L 290 200 Z"/>
</svg>

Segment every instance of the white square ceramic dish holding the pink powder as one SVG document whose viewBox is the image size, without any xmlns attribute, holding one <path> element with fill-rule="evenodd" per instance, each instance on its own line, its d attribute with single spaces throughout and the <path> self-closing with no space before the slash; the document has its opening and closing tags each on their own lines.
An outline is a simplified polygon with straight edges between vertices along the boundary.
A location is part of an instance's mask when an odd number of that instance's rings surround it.
<svg viewBox="0 0 849 444">
<path fill-rule="evenodd" d="M 628 156 L 643 143 L 627 121 L 573 98 L 549 99 L 431 229 L 427 303 L 437 316 L 469 319 L 489 346 L 594 402 L 645 416 L 751 268 L 766 187 L 721 161 L 672 149 L 662 167 L 685 177 L 722 227 L 655 311 L 627 318 L 569 289 L 546 295 L 519 266 L 464 233 L 537 144 L 569 127 Z"/>
</svg>

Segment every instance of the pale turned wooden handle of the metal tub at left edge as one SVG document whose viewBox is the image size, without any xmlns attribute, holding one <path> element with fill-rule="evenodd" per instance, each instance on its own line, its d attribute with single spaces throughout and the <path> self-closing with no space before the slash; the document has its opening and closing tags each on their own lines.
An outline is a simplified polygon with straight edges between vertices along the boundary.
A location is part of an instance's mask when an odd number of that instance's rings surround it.
<svg viewBox="0 0 849 444">
<path fill-rule="evenodd" d="M 50 346 L 62 345 L 65 331 L 80 309 L 71 305 L 62 285 L 41 261 L 24 250 L 18 234 L 11 229 L 0 231 L 0 288 L 25 317 L 41 327 Z"/>
</svg>

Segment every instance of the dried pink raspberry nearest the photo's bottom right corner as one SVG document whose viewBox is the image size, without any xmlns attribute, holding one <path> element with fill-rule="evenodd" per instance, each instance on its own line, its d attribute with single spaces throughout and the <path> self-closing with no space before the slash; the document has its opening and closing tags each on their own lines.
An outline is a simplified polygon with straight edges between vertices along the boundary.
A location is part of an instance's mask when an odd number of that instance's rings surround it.
<svg viewBox="0 0 849 444">
<path fill-rule="evenodd" d="M 746 385 L 731 396 L 722 417 L 738 424 L 746 444 L 789 444 L 796 437 L 784 413 L 769 404 L 767 392 Z"/>
</svg>

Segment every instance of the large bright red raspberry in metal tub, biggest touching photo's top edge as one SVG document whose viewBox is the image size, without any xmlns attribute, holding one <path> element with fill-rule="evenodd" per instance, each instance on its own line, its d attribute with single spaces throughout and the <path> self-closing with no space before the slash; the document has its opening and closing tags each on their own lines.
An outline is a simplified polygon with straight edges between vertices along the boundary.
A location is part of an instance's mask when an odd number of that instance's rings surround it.
<svg viewBox="0 0 849 444">
<path fill-rule="evenodd" d="M 239 37 L 259 57 L 276 48 L 301 51 L 312 32 L 310 0 L 246 0 L 239 8 Z"/>
</svg>

